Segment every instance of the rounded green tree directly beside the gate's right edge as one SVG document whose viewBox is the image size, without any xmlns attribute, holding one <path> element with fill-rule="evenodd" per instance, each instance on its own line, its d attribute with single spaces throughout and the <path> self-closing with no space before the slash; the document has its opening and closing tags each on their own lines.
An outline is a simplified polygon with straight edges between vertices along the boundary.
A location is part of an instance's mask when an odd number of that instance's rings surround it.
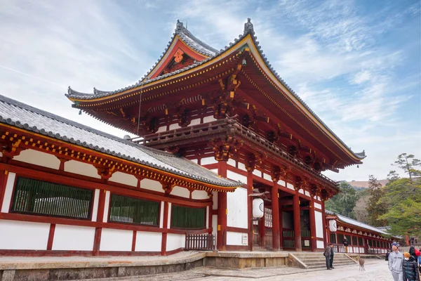
<svg viewBox="0 0 421 281">
<path fill-rule="evenodd" d="M 326 209 L 341 214 L 342 216 L 356 219 L 354 214 L 354 207 L 356 200 L 358 200 L 356 191 L 352 185 L 346 181 L 342 181 L 339 184 L 339 189 L 340 192 L 326 202 Z"/>
</svg>

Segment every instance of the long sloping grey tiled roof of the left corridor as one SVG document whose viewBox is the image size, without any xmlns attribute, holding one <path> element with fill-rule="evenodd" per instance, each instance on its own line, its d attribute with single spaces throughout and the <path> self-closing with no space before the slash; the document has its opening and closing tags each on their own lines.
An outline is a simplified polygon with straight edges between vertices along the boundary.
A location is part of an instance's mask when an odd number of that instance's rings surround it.
<svg viewBox="0 0 421 281">
<path fill-rule="evenodd" d="M 91 127 L 73 122 L 50 112 L 20 103 L 0 95 L 0 123 L 27 131 L 41 133 L 52 138 L 73 143 L 84 148 L 114 155 L 131 162 L 154 167 L 172 174 L 192 178 L 221 187 L 237 187 L 242 183 L 220 178 L 212 171 L 183 157 L 146 148 Z"/>
</svg>

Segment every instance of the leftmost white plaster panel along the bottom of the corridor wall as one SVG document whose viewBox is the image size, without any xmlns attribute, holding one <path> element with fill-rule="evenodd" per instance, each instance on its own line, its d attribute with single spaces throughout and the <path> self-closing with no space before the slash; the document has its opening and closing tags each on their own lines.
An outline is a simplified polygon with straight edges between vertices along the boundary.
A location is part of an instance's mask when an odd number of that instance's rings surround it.
<svg viewBox="0 0 421 281">
<path fill-rule="evenodd" d="M 49 223 L 0 221 L 0 249 L 46 250 Z"/>
</svg>

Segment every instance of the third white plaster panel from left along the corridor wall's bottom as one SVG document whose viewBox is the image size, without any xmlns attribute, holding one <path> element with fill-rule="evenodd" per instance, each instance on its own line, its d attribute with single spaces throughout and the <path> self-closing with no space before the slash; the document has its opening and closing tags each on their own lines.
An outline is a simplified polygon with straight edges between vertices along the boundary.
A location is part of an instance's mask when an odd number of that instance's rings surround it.
<svg viewBox="0 0 421 281">
<path fill-rule="evenodd" d="M 100 251 L 131 251 L 133 231 L 102 228 Z"/>
</svg>

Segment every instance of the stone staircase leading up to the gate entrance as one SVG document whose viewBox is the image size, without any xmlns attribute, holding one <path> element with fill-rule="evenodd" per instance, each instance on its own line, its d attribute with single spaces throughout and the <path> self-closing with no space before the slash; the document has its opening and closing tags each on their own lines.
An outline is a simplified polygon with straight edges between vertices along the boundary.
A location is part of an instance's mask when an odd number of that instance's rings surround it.
<svg viewBox="0 0 421 281">
<path fill-rule="evenodd" d="M 326 268 L 326 259 L 323 253 L 317 252 L 291 252 L 297 259 L 307 266 L 307 268 Z M 345 254 L 335 253 L 333 267 L 355 265 L 356 262 Z"/>
</svg>

